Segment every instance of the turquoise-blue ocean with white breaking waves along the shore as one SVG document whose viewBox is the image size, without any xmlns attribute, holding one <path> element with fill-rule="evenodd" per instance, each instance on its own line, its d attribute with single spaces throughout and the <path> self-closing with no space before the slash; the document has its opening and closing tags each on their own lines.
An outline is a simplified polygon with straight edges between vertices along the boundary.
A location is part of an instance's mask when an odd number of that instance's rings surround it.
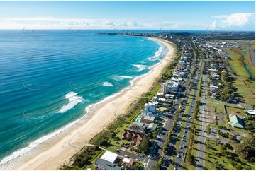
<svg viewBox="0 0 256 171">
<path fill-rule="evenodd" d="M 160 62 L 167 47 L 98 30 L 0 30 L 0 165 L 60 134 Z"/>
</svg>

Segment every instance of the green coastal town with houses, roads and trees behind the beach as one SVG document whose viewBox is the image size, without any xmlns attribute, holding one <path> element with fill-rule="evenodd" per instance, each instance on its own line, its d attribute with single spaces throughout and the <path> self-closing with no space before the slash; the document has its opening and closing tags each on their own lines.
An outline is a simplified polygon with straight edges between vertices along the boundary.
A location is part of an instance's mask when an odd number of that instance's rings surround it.
<svg viewBox="0 0 256 171">
<path fill-rule="evenodd" d="M 255 170 L 255 42 L 240 33 L 125 34 L 172 42 L 175 57 L 155 88 L 82 149 L 86 158 L 60 169 Z"/>
</svg>

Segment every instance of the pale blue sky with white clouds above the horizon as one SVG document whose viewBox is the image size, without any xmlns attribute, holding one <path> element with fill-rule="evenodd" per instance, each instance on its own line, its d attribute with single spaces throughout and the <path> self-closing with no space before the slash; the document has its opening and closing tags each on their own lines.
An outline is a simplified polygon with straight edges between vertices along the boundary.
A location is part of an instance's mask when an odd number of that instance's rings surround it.
<svg viewBox="0 0 256 171">
<path fill-rule="evenodd" d="M 255 31 L 255 1 L 0 1 L 0 29 Z"/>
</svg>

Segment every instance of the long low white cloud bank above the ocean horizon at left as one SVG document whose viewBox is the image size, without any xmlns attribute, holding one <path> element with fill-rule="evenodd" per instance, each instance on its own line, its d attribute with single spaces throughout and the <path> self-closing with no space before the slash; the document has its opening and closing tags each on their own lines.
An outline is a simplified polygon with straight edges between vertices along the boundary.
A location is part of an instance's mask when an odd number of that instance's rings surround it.
<svg viewBox="0 0 256 171">
<path fill-rule="evenodd" d="M 44 28 L 66 29 L 77 27 L 83 29 L 95 28 L 141 28 L 143 25 L 130 20 L 86 19 L 86 18 L 0 18 L 1 28 Z"/>
</svg>

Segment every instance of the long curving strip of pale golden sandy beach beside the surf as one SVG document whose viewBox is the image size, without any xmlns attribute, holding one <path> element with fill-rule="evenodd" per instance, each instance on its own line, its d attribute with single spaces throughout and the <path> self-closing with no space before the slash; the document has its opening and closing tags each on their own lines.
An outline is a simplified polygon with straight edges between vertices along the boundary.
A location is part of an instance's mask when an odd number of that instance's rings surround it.
<svg viewBox="0 0 256 171">
<path fill-rule="evenodd" d="M 60 165 L 69 162 L 69 158 L 74 155 L 79 148 L 86 145 L 90 138 L 98 134 L 108 124 L 120 114 L 128 110 L 129 105 L 147 92 L 155 78 L 161 75 L 162 69 L 165 68 L 174 56 L 174 47 L 169 45 L 166 40 L 150 38 L 152 40 L 162 42 L 169 49 L 165 59 L 152 67 L 149 74 L 138 78 L 133 82 L 130 89 L 123 90 L 116 97 L 106 100 L 92 107 L 87 119 L 82 119 L 78 124 L 72 126 L 67 131 L 62 132 L 55 138 L 48 141 L 48 146 L 38 151 L 38 153 L 30 156 L 26 162 L 15 170 L 57 170 Z"/>
</svg>

